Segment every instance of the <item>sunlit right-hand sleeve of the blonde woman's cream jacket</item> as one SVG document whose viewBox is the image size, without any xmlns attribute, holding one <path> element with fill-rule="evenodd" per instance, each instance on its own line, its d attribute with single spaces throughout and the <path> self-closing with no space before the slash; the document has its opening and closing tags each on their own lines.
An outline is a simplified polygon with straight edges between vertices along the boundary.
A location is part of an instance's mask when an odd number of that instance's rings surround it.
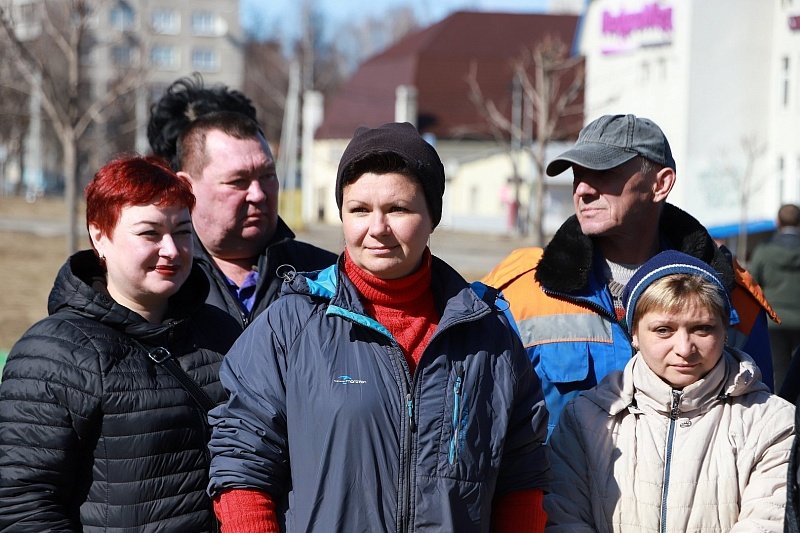
<svg viewBox="0 0 800 533">
<path fill-rule="evenodd" d="M 772 397 L 766 405 L 748 409 L 759 410 L 753 415 L 754 427 L 749 431 L 748 440 L 753 442 L 746 443 L 738 452 L 739 477 L 746 482 L 741 494 L 739 518 L 731 533 L 781 532 L 789 456 L 795 433 L 793 408 L 791 404 Z"/>
</svg>

